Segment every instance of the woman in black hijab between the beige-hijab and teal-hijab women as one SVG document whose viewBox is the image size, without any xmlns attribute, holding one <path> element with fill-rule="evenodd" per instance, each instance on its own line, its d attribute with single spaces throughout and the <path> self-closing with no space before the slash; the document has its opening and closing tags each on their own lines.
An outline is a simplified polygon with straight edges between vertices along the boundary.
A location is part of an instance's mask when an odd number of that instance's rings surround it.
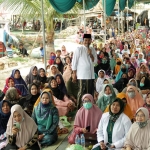
<svg viewBox="0 0 150 150">
<path fill-rule="evenodd" d="M 30 84 L 29 95 L 26 96 L 24 108 L 30 116 L 32 114 L 33 106 L 40 96 L 40 92 L 38 89 L 39 89 L 39 87 L 37 86 L 37 84 L 35 84 L 35 83 Z"/>
</svg>

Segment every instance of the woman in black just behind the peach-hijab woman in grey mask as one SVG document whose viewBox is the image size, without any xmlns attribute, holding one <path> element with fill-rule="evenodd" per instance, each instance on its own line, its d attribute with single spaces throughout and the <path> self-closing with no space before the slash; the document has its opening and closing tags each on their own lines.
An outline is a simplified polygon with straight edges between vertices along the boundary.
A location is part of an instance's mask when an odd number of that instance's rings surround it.
<svg viewBox="0 0 150 150">
<path fill-rule="evenodd" d="M 122 90 L 127 86 L 128 83 L 128 75 L 123 73 L 121 78 L 113 85 L 114 88 L 118 90 L 118 92 L 122 92 Z"/>
</svg>

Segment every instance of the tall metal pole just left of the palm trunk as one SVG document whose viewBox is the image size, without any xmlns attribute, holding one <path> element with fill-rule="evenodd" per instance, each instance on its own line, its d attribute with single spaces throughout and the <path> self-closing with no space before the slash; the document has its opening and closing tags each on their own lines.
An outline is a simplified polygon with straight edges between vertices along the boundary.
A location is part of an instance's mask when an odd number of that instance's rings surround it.
<svg viewBox="0 0 150 150">
<path fill-rule="evenodd" d="M 45 27 L 44 27 L 44 7 L 43 7 L 43 0 L 41 0 L 41 15 L 42 15 L 42 31 L 43 31 L 43 48 L 44 48 L 44 68 L 46 70 L 46 46 L 45 46 Z"/>
</svg>

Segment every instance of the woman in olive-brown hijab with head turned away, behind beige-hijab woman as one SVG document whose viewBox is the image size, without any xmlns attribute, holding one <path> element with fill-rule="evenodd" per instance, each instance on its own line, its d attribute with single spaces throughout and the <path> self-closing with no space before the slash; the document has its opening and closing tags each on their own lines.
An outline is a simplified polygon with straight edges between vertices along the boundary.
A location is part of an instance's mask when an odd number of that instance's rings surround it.
<svg viewBox="0 0 150 150">
<path fill-rule="evenodd" d="M 11 105 L 19 104 L 22 107 L 24 105 L 24 102 L 26 101 L 24 97 L 19 96 L 17 89 L 14 87 L 10 87 L 7 90 L 4 100 L 8 100 Z"/>
</svg>

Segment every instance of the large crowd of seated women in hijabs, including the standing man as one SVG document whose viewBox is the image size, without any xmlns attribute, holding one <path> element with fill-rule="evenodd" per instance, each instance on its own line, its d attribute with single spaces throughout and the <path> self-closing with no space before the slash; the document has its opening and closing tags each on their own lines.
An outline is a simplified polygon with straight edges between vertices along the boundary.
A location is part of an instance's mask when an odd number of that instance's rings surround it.
<svg viewBox="0 0 150 150">
<path fill-rule="evenodd" d="M 134 30 L 103 45 L 84 34 L 73 53 L 52 52 L 46 70 L 32 66 L 25 79 L 12 70 L 0 97 L 0 148 L 50 146 L 60 118 L 77 110 L 70 144 L 84 134 L 98 141 L 93 150 L 150 149 L 149 35 Z"/>
</svg>

